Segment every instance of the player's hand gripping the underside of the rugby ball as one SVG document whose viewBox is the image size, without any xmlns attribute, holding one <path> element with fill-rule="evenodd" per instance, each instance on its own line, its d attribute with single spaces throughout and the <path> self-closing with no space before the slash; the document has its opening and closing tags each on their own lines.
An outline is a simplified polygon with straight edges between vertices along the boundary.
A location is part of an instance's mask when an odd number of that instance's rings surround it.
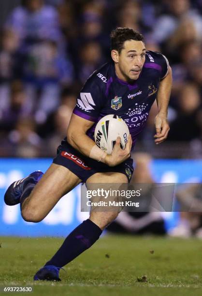
<svg viewBox="0 0 202 296">
<path fill-rule="evenodd" d="M 131 135 L 129 135 L 128 142 L 126 143 L 125 149 L 121 149 L 120 147 L 121 138 L 117 137 L 114 149 L 112 151 L 112 154 L 107 154 L 105 157 L 105 163 L 109 166 L 115 166 L 119 163 L 124 162 L 130 157 L 130 150 L 132 147 L 132 138 Z"/>
</svg>

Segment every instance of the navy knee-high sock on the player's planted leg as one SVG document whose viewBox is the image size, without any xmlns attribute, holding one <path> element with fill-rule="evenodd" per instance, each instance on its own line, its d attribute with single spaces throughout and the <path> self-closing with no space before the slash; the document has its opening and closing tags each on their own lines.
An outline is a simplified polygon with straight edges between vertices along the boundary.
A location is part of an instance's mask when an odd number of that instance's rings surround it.
<svg viewBox="0 0 202 296">
<path fill-rule="evenodd" d="M 77 226 L 59 248 L 58 252 L 48 261 L 47 265 L 65 266 L 82 252 L 90 248 L 100 237 L 102 230 L 94 222 L 87 219 Z"/>
</svg>

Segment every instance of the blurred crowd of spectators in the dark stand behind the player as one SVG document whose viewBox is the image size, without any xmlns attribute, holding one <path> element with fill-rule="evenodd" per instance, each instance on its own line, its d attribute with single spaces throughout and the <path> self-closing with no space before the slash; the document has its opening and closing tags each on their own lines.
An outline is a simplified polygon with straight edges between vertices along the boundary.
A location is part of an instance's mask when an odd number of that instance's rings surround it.
<svg viewBox="0 0 202 296">
<path fill-rule="evenodd" d="M 154 104 L 141 150 L 202 157 L 202 0 L 22 0 L 0 36 L 0 156 L 55 156 L 79 90 L 110 60 L 116 27 L 143 33 L 173 70 L 169 138 L 155 147 Z"/>
</svg>

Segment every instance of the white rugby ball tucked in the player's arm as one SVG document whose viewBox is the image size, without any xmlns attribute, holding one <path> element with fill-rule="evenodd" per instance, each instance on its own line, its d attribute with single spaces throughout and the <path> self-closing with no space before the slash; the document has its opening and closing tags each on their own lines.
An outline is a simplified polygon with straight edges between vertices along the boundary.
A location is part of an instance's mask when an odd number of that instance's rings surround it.
<svg viewBox="0 0 202 296">
<path fill-rule="evenodd" d="M 94 138 L 97 146 L 111 154 L 116 138 L 121 138 L 120 146 L 125 148 L 129 138 L 129 128 L 125 121 L 117 115 L 106 115 L 97 123 Z"/>
</svg>

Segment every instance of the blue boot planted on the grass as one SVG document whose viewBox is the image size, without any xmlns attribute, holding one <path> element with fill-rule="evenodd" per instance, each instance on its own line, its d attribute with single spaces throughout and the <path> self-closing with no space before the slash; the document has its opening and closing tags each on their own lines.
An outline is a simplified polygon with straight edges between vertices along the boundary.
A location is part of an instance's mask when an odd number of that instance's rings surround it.
<svg viewBox="0 0 202 296">
<path fill-rule="evenodd" d="M 61 281 L 59 278 L 60 267 L 54 265 L 43 266 L 34 276 L 34 281 Z"/>
</svg>

